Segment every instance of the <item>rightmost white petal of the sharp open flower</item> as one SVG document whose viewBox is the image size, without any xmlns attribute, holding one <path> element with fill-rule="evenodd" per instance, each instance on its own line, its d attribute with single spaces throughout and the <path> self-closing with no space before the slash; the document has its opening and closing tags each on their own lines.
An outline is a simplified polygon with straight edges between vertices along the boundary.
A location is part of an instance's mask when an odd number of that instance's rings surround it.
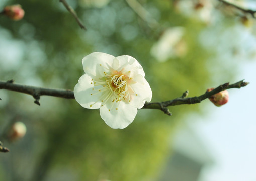
<svg viewBox="0 0 256 181">
<path fill-rule="evenodd" d="M 150 102 L 152 99 L 151 88 L 145 78 L 140 77 L 135 84 L 130 85 L 134 91 L 135 95 L 131 95 L 130 104 L 138 109 L 142 108 L 145 102 Z M 139 76 L 136 76 L 139 79 Z"/>
</svg>

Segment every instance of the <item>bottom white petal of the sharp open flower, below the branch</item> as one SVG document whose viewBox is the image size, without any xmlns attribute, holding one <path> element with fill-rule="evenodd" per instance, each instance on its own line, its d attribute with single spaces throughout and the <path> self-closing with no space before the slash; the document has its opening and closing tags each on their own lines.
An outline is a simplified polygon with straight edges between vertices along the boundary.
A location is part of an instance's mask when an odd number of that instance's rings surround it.
<svg viewBox="0 0 256 181">
<path fill-rule="evenodd" d="M 116 110 L 117 108 L 117 110 Z M 110 111 L 109 111 L 110 110 Z M 134 120 L 137 114 L 137 108 L 124 102 L 118 102 L 114 105 L 106 104 L 100 108 L 101 118 L 105 123 L 114 129 L 126 128 Z"/>
</svg>

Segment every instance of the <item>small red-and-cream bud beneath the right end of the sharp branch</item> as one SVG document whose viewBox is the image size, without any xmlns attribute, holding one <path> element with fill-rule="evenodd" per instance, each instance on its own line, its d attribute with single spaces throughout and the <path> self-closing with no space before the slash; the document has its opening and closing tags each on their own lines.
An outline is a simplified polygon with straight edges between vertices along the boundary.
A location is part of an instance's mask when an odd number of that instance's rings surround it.
<svg viewBox="0 0 256 181">
<path fill-rule="evenodd" d="M 214 88 L 208 88 L 206 92 L 212 91 Z M 215 106 L 222 106 L 228 102 L 228 92 L 227 90 L 221 91 L 215 95 L 212 95 L 209 100 L 215 105 Z"/>
</svg>

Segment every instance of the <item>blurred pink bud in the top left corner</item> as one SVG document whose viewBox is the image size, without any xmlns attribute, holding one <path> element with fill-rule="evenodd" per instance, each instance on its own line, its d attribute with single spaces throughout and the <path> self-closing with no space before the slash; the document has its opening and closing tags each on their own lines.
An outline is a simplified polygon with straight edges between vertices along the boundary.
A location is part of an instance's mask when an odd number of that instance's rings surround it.
<svg viewBox="0 0 256 181">
<path fill-rule="evenodd" d="M 24 10 L 21 5 L 11 5 L 4 8 L 4 14 L 13 20 L 21 20 L 24 17 Z"/>
</svg>

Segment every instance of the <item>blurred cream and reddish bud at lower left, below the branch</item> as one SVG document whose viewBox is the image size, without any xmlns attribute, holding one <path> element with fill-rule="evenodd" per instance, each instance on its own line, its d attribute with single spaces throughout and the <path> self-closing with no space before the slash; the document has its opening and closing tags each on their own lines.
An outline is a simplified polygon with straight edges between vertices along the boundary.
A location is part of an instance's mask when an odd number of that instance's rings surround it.
<svg viewBox="0 0 256 181">
<path fill-rule="evenodd" d="M 8 138 L 10 141 L 15 141 L 23 138 L 27 132 L 26 125 L 23 122 L 16 122 L 12 125 L 8 132 Z"/>
</svg>

